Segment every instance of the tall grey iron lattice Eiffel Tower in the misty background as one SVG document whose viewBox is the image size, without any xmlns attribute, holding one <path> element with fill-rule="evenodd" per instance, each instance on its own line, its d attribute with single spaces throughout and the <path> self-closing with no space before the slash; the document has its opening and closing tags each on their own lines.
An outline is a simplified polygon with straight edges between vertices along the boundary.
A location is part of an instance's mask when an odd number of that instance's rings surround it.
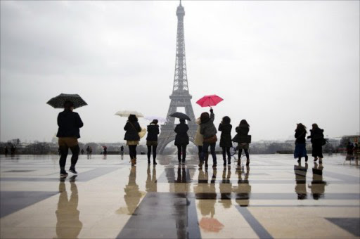
<svg viewBox="0 0 360 239">
<path fill-rule="evenodd" d="M 185 113 L 190 117 L 188 122 L 188 136 L 190 141 L 194 141 L 197 125 L 195 124 L 195 115 L 191 105 L 191 94 L 188 92 L 188 77 L 186 75 L 185 61 L 185 37 L 184 37 L 184 7 L 180 5 L 176 9 L 177 15 L 177 34 L 176 34 L 176 60 L 175 76 L 172 95 L 170 96 L 170 106 L 167 111 L 165 124 L 161 126 L 161 133 L 158 138 L 158 152 L 162 154 L 165 146 L 175 139 L 175 118 L 170 115 L 177 111 L 177 108 L 185 108 Z"/>
</svg>

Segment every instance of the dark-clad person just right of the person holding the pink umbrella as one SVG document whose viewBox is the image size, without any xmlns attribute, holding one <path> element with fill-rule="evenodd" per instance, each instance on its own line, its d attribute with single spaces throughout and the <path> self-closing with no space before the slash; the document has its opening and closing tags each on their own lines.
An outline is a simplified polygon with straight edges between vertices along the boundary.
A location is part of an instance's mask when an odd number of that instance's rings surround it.
<svg viewBox="0 0 360 239">
<path fill-rule="evenodd" d="M 233 126 L 230 122 L 230 117 L 225 116 L 219 124 L 219 131 L 221 131 L 220 147 L 222 148 L 224 166 L 226 166 L 226 154 L 228 155 L 228 164 L 231 164 L 230 148 L 233 146 L 233 143 L 231 142 L 231 129 Z"/>
</svg>

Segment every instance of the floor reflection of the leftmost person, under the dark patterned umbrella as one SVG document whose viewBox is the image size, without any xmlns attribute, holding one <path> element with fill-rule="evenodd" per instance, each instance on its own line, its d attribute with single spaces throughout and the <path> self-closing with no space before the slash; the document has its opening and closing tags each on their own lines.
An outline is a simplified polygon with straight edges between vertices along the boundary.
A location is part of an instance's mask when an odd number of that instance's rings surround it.
<svg viewBox="0 0 360 239">
<path fill-rule="evenodd" d="M 79 195 L 75 184 L 75 176 L 70 181 L 70 200 L 68 200 L 68 192 L 66 191 L 65 179 L 60 179 L 59 183 L 59 201 L 56 210 L 56 235 L 58 238 L 77 238 L 82 230 L 82 222 L 79 220 L 79 210 L 77 204 Z"/>
</svg>

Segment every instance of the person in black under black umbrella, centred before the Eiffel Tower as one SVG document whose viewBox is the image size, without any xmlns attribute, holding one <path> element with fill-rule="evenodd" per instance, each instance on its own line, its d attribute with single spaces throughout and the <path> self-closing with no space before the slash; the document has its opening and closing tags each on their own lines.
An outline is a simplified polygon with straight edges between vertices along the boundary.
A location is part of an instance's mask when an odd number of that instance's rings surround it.
<svg viewBox="0 0 360 239">
<path fill-rule="evenodd" d="M 176 133 L 177 160 L 179 160 L 179 163 L 185 164 L 186 146 L 188 146 L 188 124 L 185 123 L 185 120 L 180 119 L 180 124 L 176 125 L 174 131 Z M 183 155 L 182 160 L 181 155 Z"/>
</svg>

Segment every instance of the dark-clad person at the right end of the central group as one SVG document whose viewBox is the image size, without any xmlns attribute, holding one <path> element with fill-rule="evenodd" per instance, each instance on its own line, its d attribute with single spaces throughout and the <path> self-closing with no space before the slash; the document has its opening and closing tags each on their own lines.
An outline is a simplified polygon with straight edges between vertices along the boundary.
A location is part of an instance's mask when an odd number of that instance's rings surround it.
<svg viewBox="0 0 360 239">
<path fill-rule="evenodd" d="M 250 125 L 248 124 L 248 122 L 246 120 L 241 120 L 240 124 L 238 127 L 236 127 L 236 133 L 238 133 L 238 148 L 239 148 L 239 153 L 238 153 L 238 165 L 241 164 L 240 160 L 241 160 L 241 153 L 243 152 L 243 150 L 245 151 L 245 155 L 246 155 L 246 165 L 250 164 L 250 157 L 249 157 L 249 140 L 248 140 L 248 136 L 249 136 L 249 130 L 250 130 Z"/>
</svg>

